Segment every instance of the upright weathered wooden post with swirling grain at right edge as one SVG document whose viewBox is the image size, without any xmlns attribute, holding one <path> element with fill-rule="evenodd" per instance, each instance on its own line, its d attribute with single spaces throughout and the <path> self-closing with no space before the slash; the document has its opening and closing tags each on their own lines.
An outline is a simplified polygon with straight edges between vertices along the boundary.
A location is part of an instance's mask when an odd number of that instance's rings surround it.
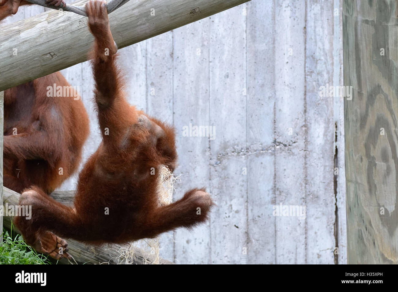
<svg viewBox="0 0 398 292">
<path fill-rule="evenodd" d="M 397 44 L 397 1 L 344 0 L 349 264 L 398 263 Z"/>
</svg>

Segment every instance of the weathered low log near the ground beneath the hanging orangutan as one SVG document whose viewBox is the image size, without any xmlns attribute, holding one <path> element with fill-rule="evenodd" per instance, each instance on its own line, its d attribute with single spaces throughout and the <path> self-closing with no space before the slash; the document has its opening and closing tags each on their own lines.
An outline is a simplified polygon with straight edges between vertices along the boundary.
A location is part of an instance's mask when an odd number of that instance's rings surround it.
<svg viewBox="0 0 398 292">
<path fill-rule="evenodd" d="M 16 206 L 18 205 L 20 194 L 3 187 L 3 194 L 4 194 L 4 201 L 3 205 L 5 208 L 5 204 L 7 203 L 8 206 Z M 51 194 L 51 197 L 56 199 L 57 201 L 66 204 L 66 205 L 73 205 L 74 199 L 74 192 L 54 192 Z M 11 228 L 11 217 L 4 217 L 4 226 L 8 229 Z M 14 226 L 15 228 L 15 226 Z M 18 232 L 18 230 L 16 230 Z M 100 264 L 100 263 L 109 263 L 109 264 L 116 264 L 116 257 L 120 255 L 118 250 L 122 247 L 126 247 L 126 245 L 119 245 L 119 244 L 111 244 L 105 245 L 102 247 L 95 247 L 92 245 L 86 245 L 80 243 L 73 239 L 68 239 L 68 248 L 69 253 L 74 257 L 77 263 L 79 264 Z M 134 264 L 142 265 L 144 263 L 144 256 L 142 253 L 142 249 L 135 248 L 135 262 Z M 59 264 L 67 264 L 68 261 L 66 259 L 62 259 L 59 261 Z M 160 264 L 162 265 L 172 265 L 173 263 L 166 260 L 161 260 Z"/>
</svg>

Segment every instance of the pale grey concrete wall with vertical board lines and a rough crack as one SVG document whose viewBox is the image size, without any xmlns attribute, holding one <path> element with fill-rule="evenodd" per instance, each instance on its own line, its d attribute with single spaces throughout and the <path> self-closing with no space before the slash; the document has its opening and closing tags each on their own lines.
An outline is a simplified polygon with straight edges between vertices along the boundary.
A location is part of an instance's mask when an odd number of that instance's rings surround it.
<svg viewBox="0 0 398 292">
<path fill-rule="evenodd" d="M 120 54 L 129 102 L 178 130 L 174 200 L 205 186 L 217 203 L 207 225 L 162 236 L 163 258 L 346 263 L 343 102 L 319 95 L 343 85 L 340 0 L 252 0 Z M 100 142 L 92 75 L 87 62 L 62 73 L 90 115 L 85 161 Z M 214 139 L 183 136 L 189 124 L 213 126 Z M 281 203 L 305 205 L 305 219 L 273 216 Z"/>
</svg>

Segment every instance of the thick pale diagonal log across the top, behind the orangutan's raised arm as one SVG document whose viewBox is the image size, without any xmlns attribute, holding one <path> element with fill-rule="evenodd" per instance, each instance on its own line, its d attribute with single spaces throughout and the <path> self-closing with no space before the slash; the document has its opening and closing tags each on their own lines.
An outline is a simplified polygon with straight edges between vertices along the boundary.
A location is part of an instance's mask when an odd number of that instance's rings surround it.
<svg viewBox="0 0 398 292">
<path fill-rule="evenodd" d="M 248 1 L 131 0 L 109 22 L 121 49 Z M 52 10 L 6 25 L 0 33 L 0 91 L 86 61 L 92 44 L 87 18 L 71 12 Z"/>
</svg>

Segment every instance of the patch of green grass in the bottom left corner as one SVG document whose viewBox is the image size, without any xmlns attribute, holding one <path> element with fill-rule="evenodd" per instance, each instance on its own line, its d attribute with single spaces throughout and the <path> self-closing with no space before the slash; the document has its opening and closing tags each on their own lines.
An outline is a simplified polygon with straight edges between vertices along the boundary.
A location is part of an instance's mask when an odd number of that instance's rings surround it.
<svg viewBox="0 0 398 292">
<path fill-rule="evenodd" d="M 37 253 L 23 241 L 22 236 L 3 230 L 0 246 L 0 265 L 51 265 L 45 255 Z"/>
</svg>

